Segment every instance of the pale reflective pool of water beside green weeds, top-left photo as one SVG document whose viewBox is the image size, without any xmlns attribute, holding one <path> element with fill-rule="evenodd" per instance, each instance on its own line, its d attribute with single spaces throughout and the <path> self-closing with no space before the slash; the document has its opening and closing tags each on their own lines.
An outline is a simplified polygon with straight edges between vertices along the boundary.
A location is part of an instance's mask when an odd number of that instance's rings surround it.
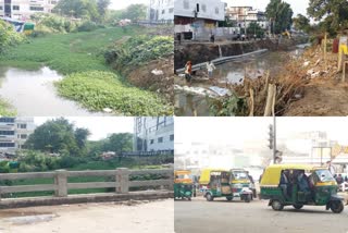
<svg viewBox="0 0 348 233">
<path fill-rule="evenodd" d="M 21 116 L 104 115 L 89 112 L 76 102 L 59 97 L 53 83 L 62 78 L 46 66 L 39 71 L 0 66 L 0 98 L 8 101 Z"/>
</svg>

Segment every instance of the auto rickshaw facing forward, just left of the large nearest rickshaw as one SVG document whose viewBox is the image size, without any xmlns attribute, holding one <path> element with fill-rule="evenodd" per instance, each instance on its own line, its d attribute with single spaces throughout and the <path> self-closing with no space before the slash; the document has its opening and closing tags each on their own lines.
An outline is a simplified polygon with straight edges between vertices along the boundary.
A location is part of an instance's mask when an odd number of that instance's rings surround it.
<svg viewBox="0 0 348 233">
<path fill-rule="evenodd" d="M 232 169 L 229 183 L 233 197 L 240 197 L 240 199 L 246 203 L 252 200 L 253 193 L 251 189 L 251 182 L 246 170 Z"/>
</svg>

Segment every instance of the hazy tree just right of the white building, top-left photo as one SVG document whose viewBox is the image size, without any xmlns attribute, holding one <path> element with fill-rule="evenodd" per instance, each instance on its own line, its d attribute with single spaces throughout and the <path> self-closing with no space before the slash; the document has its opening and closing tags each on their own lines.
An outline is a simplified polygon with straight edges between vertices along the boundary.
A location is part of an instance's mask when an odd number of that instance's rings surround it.
<svg viewBox="0 0 348 233">
<path fill-rule="evenodd" d="M 54 11 L 91 21 L 98 21 L 100 17 L 96 0 L 60 0 Z"/>
</svg>

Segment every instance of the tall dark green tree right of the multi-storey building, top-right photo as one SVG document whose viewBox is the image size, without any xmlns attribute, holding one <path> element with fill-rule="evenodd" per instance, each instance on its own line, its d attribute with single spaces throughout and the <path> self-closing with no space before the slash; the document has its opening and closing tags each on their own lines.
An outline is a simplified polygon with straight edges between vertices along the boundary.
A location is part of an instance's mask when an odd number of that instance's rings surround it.
<svg viewBox="0 0 348 233">
<path fill-rule="evenodd" d="M 271 20 L 271 30 L 274 34 L 290 29 L 294 11 L 291 7 L 282 0 L 271 0 L 265 9 L 265 14 Z"/>
</svg>

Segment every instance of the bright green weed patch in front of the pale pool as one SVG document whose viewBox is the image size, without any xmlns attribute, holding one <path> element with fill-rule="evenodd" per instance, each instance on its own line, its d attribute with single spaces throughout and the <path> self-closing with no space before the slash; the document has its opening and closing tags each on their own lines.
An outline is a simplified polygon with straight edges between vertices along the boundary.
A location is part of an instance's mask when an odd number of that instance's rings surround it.
<svg viewBox="0 0 348 233">
<path fill-rule="evenodd" d="M 59 94 L 84 107 L 102 111 L 110 108 L 126 115 L 171 115 L 173 108 L 150 91 L 124 85 L 112 72 L 74 73 L 57 83 Z"/>
</svg>

